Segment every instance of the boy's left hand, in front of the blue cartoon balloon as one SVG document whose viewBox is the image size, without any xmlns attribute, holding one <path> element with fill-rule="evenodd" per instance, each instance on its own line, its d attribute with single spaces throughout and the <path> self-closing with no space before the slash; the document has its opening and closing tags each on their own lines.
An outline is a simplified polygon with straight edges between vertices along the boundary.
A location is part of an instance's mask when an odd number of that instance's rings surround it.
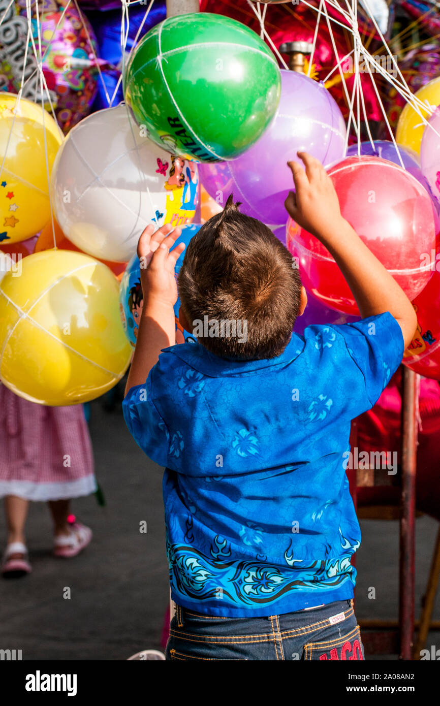
<svg viewBox="0 0 440 706">
<path fill-rule="evenodd" d="M 177 301 L 177 285 L 174 265 L 185 249 L 184 243 L 170 248 L 182 233 L 182 229 L 163 225 L 155 231 L 153 225 L 145 228 L 138 242 L 138 258 L 141 264 L 141 286 L 145 301 L 158 301 L 174 306 Z"/>
</svg>

